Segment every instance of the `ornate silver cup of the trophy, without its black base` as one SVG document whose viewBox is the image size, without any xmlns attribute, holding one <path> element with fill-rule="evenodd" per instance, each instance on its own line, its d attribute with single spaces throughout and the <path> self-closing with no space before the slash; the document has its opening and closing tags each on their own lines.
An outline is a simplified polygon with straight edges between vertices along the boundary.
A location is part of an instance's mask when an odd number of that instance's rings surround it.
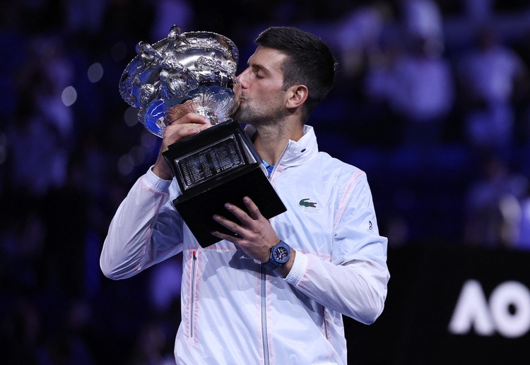
<svg viewBox="0 0 530 365">
<path fill-rule="evenodd" d="M 194 112 L 218 124 L 237 109 L 239 50 L 223 35 L 182 32 L 174 25 L 167 38 L 136 45 L 138 56 L 119 82 L 125 102 L 138 108 L 139 121 L 162 137 L 172 122 L 172 108 L 192 101 Z"/>
</svg>

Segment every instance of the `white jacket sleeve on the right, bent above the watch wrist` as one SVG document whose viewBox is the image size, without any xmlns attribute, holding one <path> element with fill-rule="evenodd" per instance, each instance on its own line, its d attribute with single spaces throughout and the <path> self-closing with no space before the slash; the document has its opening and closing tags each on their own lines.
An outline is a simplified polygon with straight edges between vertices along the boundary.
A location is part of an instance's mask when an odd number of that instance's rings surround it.
<svg viewBox="0 0 530 365">
<path fill-rule="evenodd" d="M 348 186 L 337 207 L 331 261 L 297 251 L 285 280 L 322 306 L 370 324 L 387 297 L 387 238 L 379 236 L 366 175 Z"/>
</svg>

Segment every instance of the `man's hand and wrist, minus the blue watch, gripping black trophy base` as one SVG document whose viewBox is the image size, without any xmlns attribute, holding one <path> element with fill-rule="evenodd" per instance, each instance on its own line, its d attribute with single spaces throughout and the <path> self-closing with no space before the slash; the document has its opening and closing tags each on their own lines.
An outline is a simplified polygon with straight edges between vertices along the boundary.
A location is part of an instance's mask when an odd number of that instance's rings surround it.
<svg viewBox="0 0 530 365">
<path fill-rule="evenodd" d="M 213 216 L 216 222 L 230 229 L 230 231 L 234 232 L 234 235 L 220 232 L 212 232 L 212 234 L 239 246 L 248 256 L 255 260 L 266 263 L 271 257 L 271 247 L 278 244 L 280 239 L 278 239 L 271 222 L 261 215 L 257 205 L 249 197 L 245 196 L 243 203 L 245 203 L 249 214 L 233 204 L 225 204 L 225 208 L 240 220 L 239 224 L 220 215 Z M 276 269 L 283 277 L 286 277 L 290 268 L 293 267 L 295 254 L 295 250 L 291 249 L 289 261 L 281 268 Z"/>
</svg>

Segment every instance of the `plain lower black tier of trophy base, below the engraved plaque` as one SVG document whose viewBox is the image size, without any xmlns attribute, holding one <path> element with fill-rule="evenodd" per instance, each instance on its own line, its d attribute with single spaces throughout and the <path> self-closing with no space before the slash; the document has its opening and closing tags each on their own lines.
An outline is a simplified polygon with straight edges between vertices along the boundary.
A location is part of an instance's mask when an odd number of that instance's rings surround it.
<svg viewBox="0 0 530 365">
<path fill-rule="evenodd" d="M 238 222 L 226 210 L 225 203 L 232 203 L 247 211 L 243 198 L 248 196 L 267 219 L 287 210 L 257 163 L 233 169 L 228 174 L 201 184 L 200 189 L 199 186 L 196 188 L 176 198 L 173 205 L 202 247 L 220 241 L 211 234 L 212 231 L 233 234 L 213 220 L 213 215 L 217 214 Z"/>
</svg>

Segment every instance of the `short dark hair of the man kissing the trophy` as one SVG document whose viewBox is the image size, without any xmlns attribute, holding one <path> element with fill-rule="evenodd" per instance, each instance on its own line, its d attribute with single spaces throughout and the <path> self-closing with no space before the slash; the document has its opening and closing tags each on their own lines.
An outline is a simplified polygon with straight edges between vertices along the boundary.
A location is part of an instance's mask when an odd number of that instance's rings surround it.
<svg viewBox="0 0 530 365">
<path fill-rule="evenodd" d="M 285 54 L 283 88 L 306 85 L 309 90 L 303 121 L 324 100 L 335 83 L 337 63 L 328 45 L 316 35 L 294 27 L 267 28 L 255 40 L 259 46 Z"/>
</svg>

